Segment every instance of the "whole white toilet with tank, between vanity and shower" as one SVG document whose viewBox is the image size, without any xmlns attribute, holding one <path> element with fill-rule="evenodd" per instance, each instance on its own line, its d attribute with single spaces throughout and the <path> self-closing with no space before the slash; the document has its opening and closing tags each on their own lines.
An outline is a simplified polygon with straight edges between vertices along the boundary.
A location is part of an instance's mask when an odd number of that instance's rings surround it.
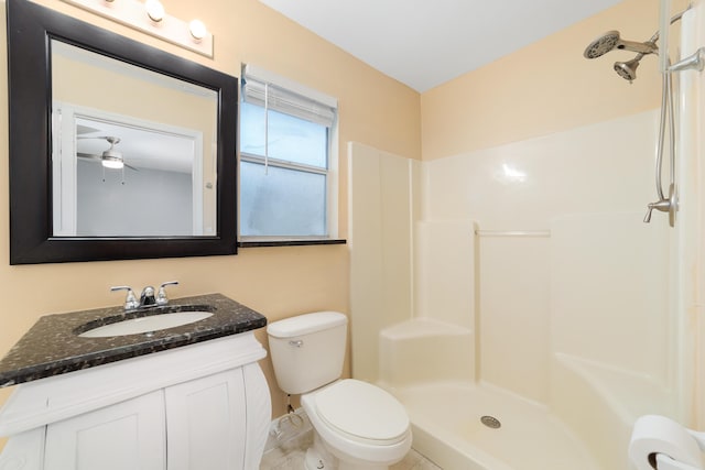
<svg viewBox="0 0 705 470">
<path fill-rule="evenodd" d="M 267 327 L 279 387 L 301 394 L 314 429 L 307 470 L 384 470 L 411 448 L 404 407 L 391 394 L 355 379 L 340 380 L 347 317 L 299 315 Z"/>
</svg>

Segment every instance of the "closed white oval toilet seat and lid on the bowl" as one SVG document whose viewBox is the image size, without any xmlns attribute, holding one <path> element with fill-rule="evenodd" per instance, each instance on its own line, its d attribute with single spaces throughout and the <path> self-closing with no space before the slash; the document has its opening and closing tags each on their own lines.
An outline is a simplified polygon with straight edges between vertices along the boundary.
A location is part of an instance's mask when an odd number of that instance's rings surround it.
<svg viewBox="0 0 705 470">
<path fill-rule="evenodd" d="M 382 389 L 346 379 L 315 393 L 321 419 L 351 440 L 386 446 L 405 439 L 409 417 L 404 407 Z"/>
</svg>

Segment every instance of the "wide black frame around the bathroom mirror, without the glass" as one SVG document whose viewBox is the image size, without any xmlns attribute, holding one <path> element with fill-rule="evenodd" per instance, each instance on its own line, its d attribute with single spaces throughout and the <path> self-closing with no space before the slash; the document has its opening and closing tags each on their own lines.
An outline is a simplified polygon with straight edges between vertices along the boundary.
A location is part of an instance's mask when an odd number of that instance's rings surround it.
<svg viewBox="0 0 705 470">
<path fill-rule="evenodd" d="M 26 0 L 7 0 L 10 264 L 237 253 L 237 78 Z M 214 237 L 65 238 L 52 233 L 50 43 L 56 39 L 218 95 Z M 145 210 L 159 208 L 147 207 Z"/>
</svg>

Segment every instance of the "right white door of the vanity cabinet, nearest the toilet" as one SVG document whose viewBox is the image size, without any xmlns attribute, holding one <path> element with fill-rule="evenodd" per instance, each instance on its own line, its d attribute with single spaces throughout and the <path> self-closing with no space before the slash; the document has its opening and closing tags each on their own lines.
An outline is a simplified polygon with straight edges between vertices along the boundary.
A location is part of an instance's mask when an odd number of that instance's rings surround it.
<svg viewBox="0 0 705 470">
<path fill-rule="evenodd" d="M 242 370 L 170 386 L 166 400 L 169 470 L 241 470 L 246 404 Z"/>
</svg>

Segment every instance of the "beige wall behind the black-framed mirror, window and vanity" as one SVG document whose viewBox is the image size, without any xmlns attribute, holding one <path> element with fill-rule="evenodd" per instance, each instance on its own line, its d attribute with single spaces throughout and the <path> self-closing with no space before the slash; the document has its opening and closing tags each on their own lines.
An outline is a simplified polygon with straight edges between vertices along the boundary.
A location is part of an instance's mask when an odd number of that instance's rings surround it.
<svg viewBox="0 0 705 470">
<path fill-rule="evenodd" d="M 410 88 L 360 63 L 257 0 L 167 0 L 170 14 L 198 17 L 215 35 L 215 59 L 202 57 L 56 0 L 37 3 L 90 21 L 173 54 L 239 76 L 249 62 L 335 96 L 340 108 L 340 236 L 346 228 L 345 142 L 355 140 L 420 159 L 420 97 Z M 7 63 L 6 20 L 0 20 L 0 63 Z M 0 89 L 7 69 L 0 67 Z M 9 265 L 8 99 L 0 96 L 0 356 L 39 316 L 123 302 L 109 287 L 178 280 L 174 296 L 220 292 L 264 314 L 270 321 L 317 309 L 348 309 L 348 248 L 250 248 L 237 256 Z M 265 341 L 263 331 L 259 335 Z M 272 389 L 273 415 L 284 413 L 269 360 L 262 361 Z M 0 402 L 12 389 L 0 389 Z"/>
</svg>

